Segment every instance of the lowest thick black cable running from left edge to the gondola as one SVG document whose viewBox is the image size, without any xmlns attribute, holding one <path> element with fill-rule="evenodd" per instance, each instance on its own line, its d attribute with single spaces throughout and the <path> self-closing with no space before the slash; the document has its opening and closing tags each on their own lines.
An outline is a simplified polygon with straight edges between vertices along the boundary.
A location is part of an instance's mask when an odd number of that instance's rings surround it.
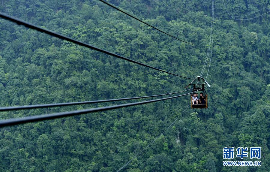
<svg viewBox="0 0 270 172">
<path fill-rule="evenodd" d="M 197 90 L 197 91 L 199 91 L 199 90 Z M 194 91 L 194 92 L 196 92 L 196 91 Z M 140 102 L 134 102 L 134 103 L 127 103 L 127 104 L 119 104 L 119 105 L 113 105 L 113 106 L 96 107 L 96 108 L 91 108 L 91 109 L 74 110 L 74 111 L 60 112 L 60 113 L 50 113 L 50 114 L 46 114 L 46 115 L 27 116 L 27 117 L 22 117 L 22 118 L 4 119 L 4 120 L 0 120 L 0 127 L 23 124 L 23 123 L 27 123 L 27 122 L 43 121 L 43 120 L 47 120 L 47 119 L 62 118 L 62 117 L 67 117 L 67 116 L 75 116 L 75 115 L 99 112 L 99 111 L 104 111 L 104 110 L 119 109 L 119 108 L 123 108 L 123 107 L 130 107 L 130 106 L 135 106 L 135 105 L 140 105 L 140 104 L 147 104 L 147 103 L 152 103 L 152 102 L 156 102 L 156 101 L 163 101 L 163 100 L 181 97 L 184 95 L 189 95 L 189 94 L 194 93 L 194 92 L 190 92 L 190 93 L 183 94 L 183 95 L 177 95 L 177 96 L 173 96 L 173 97 L 160 98 L 160 99 L 148 100 L 148 101 L 140 101 Z"/>
</svg>

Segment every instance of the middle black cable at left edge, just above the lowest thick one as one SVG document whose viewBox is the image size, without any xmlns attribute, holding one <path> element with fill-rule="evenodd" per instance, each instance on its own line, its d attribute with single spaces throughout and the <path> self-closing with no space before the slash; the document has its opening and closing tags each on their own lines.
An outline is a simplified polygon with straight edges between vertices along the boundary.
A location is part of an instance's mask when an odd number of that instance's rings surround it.
<svg viewBox="0 0 270 172">
<path fill-rule="evenodd" d="M 92 104 L 92 103 L 104 103 L 104 102 L 113 102 L 113 101 L 124 101 L 124 100 L 133 100 L 140 98 L 150 98 L 150 97 L 158 97 L 164 95 L 177 94 L 180 92 L 189 91 L 192 89 L 187 89 L 184 91 L 160 94 L 160 95 L 149 95 L 142 97 L 130 97 L 130 98 L 118 98 L 118 99 L 107 99 L 107 100 L 94 100 L 94 101 L 78 101 L 78 102 L 67 102 L 67 103 L 52 103 L 52 104 L 35 104 L 35 105 L 25 105 L 25 106 L 10 106 L 10 107 L 0 107 L 0 111 L 9 111 L 9 110 L 24 110 L 24 109 L 35 109 L 35 108 L 47 108 L 47 107 L 58 107 L 58 106 L 71 106 L 71 105 L 79 105 L 79 104 Z"/>
</svg>

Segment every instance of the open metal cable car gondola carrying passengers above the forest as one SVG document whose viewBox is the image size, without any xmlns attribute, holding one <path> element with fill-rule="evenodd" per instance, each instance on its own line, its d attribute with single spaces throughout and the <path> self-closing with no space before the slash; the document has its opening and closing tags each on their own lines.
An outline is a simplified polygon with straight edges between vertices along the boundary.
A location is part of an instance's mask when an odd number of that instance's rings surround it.
<svg viewBox="0 0 270 172">
<path fill-rule="evenodd" d="M 196 79 L 198 79 L 198 82 L 196 84 L 192 84 Z M 191 101 L 191 108 L 196 108 L 196 109 L 203 109 L 203 108 L 208 108 L 208 95 L 204 89 L 204 84 L 198 84 L 200 82 L 200 79 L 202 79 L 209 87 L 210 85 L 204 80 L 204 78 L 198 76 L 196 77 L 190 84 L 188 84 L 185 88 L 187 88 L 190 85 L 193 85 L 193 90 L 190 94 L 190 101 Z M 198 94 L 198 91 L 200 94 L 200 98 L 197 98 L 198 101 L 193 101 L 193 96 L 195 93 Z"/>
</svg>

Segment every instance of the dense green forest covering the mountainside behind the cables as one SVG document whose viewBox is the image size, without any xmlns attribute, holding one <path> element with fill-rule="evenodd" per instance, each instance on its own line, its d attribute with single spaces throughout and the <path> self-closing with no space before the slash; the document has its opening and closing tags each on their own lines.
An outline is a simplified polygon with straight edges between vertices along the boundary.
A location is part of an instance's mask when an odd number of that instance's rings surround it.
<svg viewBox="0 0 270 172">
<path fill-rule="evenodd" d="M 209 46 L 212 1 L 108 2 L 199 46 L 173 39 L 97 0 L 2 0 L 0 12 L 166 71 L 192 78 L 200 74 Z M 225 2 L 236 16 L 269 4 Z M 181 115 L 190 101 L 187 95 L 3 127 L 0 172 L 116 171 L 177 118 L 122 171 L 270 171 L 269 20 L 269 13 L 233 20 L 223 1 L 214 2 L 208 109 L 187 108 Z M 184 90 L 188 83 L 0 19 L 1 107 L 156 95 Z M 1 112 L 0 119 L 134 101 Z M 262 166 L 223 166 L 223 147 L 262 147 Z"/>
</svg>

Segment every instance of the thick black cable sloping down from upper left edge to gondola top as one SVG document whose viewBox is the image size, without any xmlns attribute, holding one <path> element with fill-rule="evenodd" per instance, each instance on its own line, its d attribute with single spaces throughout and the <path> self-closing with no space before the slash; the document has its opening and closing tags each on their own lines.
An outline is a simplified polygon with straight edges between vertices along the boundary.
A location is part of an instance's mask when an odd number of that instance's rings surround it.
<svg viewBox="0 0 270 172">
<path fill-rule="evenodd" d="M 69 37 L 67 37 L 67 36 L 58 34 L 58 33 L 56 33 L 56 32 L 52 32 L 52 31 L 50 31 L 50 30 L 48 30 L 48 29 L 41 28 L 40 26 L 36 26 L 36 25 L 33 25 L 32 23 L 28 23 L 28 22 L 26 22 L 26 21 L 17 19 L 17 18 L 15 18 L 15 17 L 11 17 L 11 16 L 9 16 L 9 15 L 7 15 L 7 14 L 0 13 L 0 17 L 4 18 L 4 19 L 6 19 L 6 20 L 13 21 L 13 22 L 17 23 L 18 25 L 23 25 L 23 26 L 26 26 L 26 27 L 28 27 L 28 28 L 30 28 L 30 29 L 35 29 L 35 30 L 37 30 L 37 31 L 39 31 L 39 32 L 44 32 L 44 33 L 49 34 L 49 35 L 52 35 L 52 36 L 54 36 L 54 37 L 57 37 L 57 38 L 60 38 L 60 39 L 63 39 L 63 40 L 67 40 L 67 41 L 70 41 L 70 42 L 72 42 L 72 43 L 74 43 L 74 44 L 78 44 L 78 45 L 81 45 L 81 46 L 83 46 L 83 47 L 91 48 L 91 49 L 93 49 L 93 50 L 96 50 L 96 51 L 99 51 L 99 52 L 102 52 L 102 53 L 105 53 L 105 54 L 108 54 L 108 55 L 111 55 L 111 56 L 114 56 L 114 57 L 117 57 L 117 58 L 120 58 L 120 59 L 123 59 L 123 60 L 126 60 L 126 61 L 129 61 L 129 62 L 132 62 L 132 63 L 136 63 L 136 64 L 138 64 L 138 65 L 142 65 L 142 66 L 145 66 L 145 67 L 148 67 L 148 68 L 152 68 L 152 69 L 155 69 L 155 70 L 157 70 L 157 71 L 161 71 L 161 72 L 164 72 L 164 73 L 167 73 L 167 74 L 172 74 L 172 75 L 175 75 L 175 76 L 178 76 L 178 77 L 183 77 L 183 78 L 187 78 L 187 79 L 192 79 L 192 80 L 193 80 L 193 78 L 184 77 L 184 76 L 181 76 L 181 75 L 178 75 L 178 74 L 174 74 L 174 73 L 171 73 L 171 72 L 167 72 L 167 71 L 161 70 L 161 69 L 159 69 L 159 68 L 155 68 L 155 67 L 152 67 L 152 66 L 143 64 L 143 63 L 141 63 L 141 62 L 137 62 L 137 61 L 135 61 L 135 60 L 128 59 L 128 58 L 123 57 L 123 56 L 120 56 L 120 55 L 118 55 L 118 54 L 111 53 L 111 52 L 109 52 L 109 51 L 107 51 L 107 50 L 103 50 L 103 49 L 101 49 L 101 48 L 92 46 L 92 45 L 90 45 L 90 44 L 86 44 L 86 43 L 83 43 L 83 42 L 81 42 L 81 41 L 77 41 L 77 40 L 75 40 L 75 39 L 73 39 L 73 38 L 69 38 Z"/>
</svg>

